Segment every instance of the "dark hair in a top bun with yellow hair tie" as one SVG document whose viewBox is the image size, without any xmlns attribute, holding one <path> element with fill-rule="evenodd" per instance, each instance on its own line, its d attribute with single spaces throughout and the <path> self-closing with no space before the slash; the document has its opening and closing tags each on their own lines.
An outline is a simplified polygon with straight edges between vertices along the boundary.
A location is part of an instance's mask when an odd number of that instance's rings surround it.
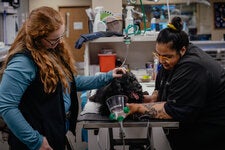
<svg viewBox="0 0 225 150">
<path fill-rule="evenodd" d="M 180 17 L 174 17 L 167 25 L 167 28 L 161 30 L 156 39 L 157 43 L 170 44 L 170 48 L 179 53 L 182 47 L 188 48 L 189 38 L 183 31 L 183 22 Z"/>
</svg>

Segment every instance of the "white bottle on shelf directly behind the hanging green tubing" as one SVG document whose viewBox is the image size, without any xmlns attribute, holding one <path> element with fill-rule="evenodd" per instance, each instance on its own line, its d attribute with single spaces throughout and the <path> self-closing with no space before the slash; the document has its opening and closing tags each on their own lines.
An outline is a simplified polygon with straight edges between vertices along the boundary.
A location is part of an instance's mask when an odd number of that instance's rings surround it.
<svg viewBox="0 0 225 150">
<path fill-rule="evenodd" d="M 125 30 L 127 34 L 132 34 L 134 33 L 134 18 L 132 16 L 132 10 L 134 6 L 127 6 L 127 17 L 125 19 Z"/>
</svg>

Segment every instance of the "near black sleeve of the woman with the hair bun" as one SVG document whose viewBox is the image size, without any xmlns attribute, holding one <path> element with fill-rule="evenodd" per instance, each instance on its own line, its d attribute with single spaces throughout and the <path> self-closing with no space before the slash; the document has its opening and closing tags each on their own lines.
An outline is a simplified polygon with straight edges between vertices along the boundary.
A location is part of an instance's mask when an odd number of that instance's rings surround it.
<svg viewBox="0 0 225 150">
<path fill-rule="evenodd" d="M 207 70 L 185 63 L 174 72 L 168 89 L 166 112 L 176 120 L 191 120 L 198 115 L 207 98 Z"/>
</svg>

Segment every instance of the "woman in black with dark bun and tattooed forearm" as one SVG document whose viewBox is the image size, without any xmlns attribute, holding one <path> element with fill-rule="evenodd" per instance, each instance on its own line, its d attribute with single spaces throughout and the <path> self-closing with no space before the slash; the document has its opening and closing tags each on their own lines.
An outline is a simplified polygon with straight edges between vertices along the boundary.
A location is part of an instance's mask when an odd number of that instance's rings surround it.
<svg viewBox="0 0 225 150">
<path fill-rule="evenodd" d="M 173 18 L 156 40 L 161 68 L 155 90 L 144 104 L 127 104 L 152 118 L 174 119 L 167 130 L 173 150 L 224 150 L 225 70 L 211 56 L 189 43 L 182 20 Z"/>
</svg>

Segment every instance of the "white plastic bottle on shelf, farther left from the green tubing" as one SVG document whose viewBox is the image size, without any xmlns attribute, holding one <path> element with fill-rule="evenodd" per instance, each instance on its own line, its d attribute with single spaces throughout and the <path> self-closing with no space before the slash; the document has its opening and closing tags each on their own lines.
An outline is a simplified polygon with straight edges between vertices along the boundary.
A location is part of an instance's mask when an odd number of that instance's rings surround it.
<svg viewBox="0 0 225 150">
<path fill-rule="evenodd" d="M 99 32 L 99 31 L 106 31 L 106 24 L 101 21 L 101 11 L 103 10 L 103 7 L 98 6 L 95 7 L 95 20 L 94 20 L 94 25 L 93 25 L 93 32 Z"/>
</svg>

